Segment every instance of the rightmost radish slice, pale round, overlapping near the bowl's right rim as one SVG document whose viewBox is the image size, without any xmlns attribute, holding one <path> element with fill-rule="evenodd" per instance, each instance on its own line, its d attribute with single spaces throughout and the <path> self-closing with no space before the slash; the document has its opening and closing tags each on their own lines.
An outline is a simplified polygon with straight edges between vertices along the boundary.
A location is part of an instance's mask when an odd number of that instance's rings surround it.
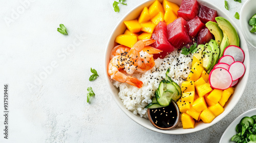
<svg viewBox="0 0 256 143">
<path fill-rule="evenodd" d="M 245 66 L 242 62 L 233 62 L 230 64 L 228 71 L 231 74 L 233 81 L 235 81 L 244 75 Z"/>
</svg>

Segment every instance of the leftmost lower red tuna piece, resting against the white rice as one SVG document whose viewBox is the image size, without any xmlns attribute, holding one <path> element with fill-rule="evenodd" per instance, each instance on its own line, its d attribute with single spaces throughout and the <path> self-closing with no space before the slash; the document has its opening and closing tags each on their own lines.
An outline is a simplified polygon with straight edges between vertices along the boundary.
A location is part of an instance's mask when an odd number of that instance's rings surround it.
<svg viewBox="0 0 256 143">
<path fill-rule="evenodd" d="M 154 59 L 161 58 L 163 59 L 166 55 L 173 52 L 175 47 L 169 43 L 167 39 L 167 25 L 165 22 L 160 21 L 152 34 L 152 38 L 156 40 L 155 43 L 152 44 L 156 49 L 162 50 L 160 54 L 154 54 Z"/>
</svg>

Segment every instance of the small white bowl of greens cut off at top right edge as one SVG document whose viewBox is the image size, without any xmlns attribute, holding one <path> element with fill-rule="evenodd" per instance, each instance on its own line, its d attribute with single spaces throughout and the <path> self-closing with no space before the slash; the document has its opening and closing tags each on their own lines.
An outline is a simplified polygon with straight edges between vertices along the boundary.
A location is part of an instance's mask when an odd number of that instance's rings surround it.
<svg viewBox="0 0 256 143">
<path fill-rule="evenodd" d="M 254 48 L 256 48 L 256 32 L 251 33 L 252 26 L 249 25 L 249 19 L 256 13 L 256 1 L 248 0 L 241 9 L 240 26 L 245 37 L 245 40 Z"/>
</svg>

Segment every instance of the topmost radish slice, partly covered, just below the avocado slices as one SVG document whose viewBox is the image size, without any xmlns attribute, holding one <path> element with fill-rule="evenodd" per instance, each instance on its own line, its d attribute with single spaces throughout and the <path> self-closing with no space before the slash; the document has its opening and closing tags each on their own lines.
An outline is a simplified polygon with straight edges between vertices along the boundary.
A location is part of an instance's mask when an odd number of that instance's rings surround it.
<svg viewBox="0 0 256 143">
<path fill-rule="evenodd" d="M 230 45 L 226 47 L 223 56 L 225 55 L 232 56 L 235 62 L 244 62 L 244 51 L 236 45 Z"/>
</svg>

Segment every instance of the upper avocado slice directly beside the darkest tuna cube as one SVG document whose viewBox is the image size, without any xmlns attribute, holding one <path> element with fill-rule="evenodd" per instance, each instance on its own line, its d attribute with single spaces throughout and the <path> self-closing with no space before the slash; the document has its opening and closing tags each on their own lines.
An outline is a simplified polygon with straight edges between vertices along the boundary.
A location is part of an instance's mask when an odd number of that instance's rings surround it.
<svg viewBox="0 0 256 143">
<path fill-rule="evenodd" d="M 209 29 L 210 33 L 214 35 L 215 40 L 220 46 L 223 39 L 223 32 L 216 22 L 208 21 L 205 26 Z"/>
</svg>

